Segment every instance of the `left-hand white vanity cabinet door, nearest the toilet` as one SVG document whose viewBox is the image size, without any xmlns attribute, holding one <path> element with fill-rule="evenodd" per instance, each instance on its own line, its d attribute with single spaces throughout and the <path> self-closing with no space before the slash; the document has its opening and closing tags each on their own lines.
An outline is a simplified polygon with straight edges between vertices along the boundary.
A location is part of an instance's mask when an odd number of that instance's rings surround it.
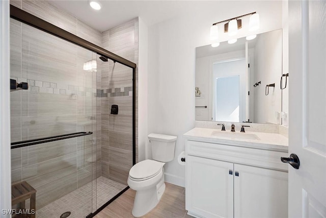
<svg viewBox="0 0 326 218">
<path fill-rule="evenodd" d="M 190 155 L 186 161 L 189 213 L 207 218 L 233 217 L 233 163 Z"/>
</svg>

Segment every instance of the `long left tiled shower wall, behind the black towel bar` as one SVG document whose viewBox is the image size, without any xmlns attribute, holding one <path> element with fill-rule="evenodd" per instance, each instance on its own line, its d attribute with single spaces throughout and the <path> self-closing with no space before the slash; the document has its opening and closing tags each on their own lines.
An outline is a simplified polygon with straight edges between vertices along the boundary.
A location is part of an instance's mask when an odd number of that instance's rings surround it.
<svg viewBox="0 0 326 218">
<path fill-rule="evenodd" d="M 101 46 L 100 32 L 46 1 L 11 4 Z M 96 54 L 13 19 L 10 28 L 11 78 L 30 85 L 11 92 L 12 141 L 94 132 L 11 150 L 12 181 L 26 180 L 36 188 L 41 208 L 92 181 L 92 169 L 101 175 L 101 105 L 95 97 L 101 61 L 97 72 L 85 72 L 83 63 Z M 98 145 L 97 155 L 92 144 Z"/>
</svg>

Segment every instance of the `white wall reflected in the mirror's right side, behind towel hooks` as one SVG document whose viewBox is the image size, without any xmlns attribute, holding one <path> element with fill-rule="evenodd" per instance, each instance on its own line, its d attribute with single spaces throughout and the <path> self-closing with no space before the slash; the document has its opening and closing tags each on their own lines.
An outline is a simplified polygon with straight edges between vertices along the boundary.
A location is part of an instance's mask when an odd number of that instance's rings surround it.
<svg viewBox="0 0 326 218">
<path fill-rule="evenodd" d="M 270 43 L 273 42 L 273 43 Z M 255 81 L 261 84 L 255 88 L 255 122 L 259 124 L 281 124 L 277 113 L 282 109 L 282 31 L 271 31 L 257 36 L 255 46 Z M 269 87 L 265 95 L 267 84 Z"/>
</svg>

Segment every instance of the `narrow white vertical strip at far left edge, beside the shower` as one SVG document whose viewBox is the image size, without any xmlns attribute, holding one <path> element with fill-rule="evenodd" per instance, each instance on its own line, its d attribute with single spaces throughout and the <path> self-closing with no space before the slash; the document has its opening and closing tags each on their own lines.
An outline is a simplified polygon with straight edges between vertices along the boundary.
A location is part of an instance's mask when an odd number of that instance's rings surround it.
<svg viewBox="0 0 326 218">
<path fill-rule="evenodd" d="M 10 49 L 9 1 L 0 1 L 0 217 L 2 209 L 11 209 L 11 155 L 10 155 Z"/>
</svg>

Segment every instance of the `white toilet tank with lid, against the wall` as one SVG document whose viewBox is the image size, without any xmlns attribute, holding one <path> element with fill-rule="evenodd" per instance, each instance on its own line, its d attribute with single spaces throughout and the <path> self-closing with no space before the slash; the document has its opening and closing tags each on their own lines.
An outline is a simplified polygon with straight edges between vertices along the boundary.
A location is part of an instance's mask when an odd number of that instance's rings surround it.
<svg viewBox="0 0 326 218">
<path fill-rule="evenodd" d="M 148 135 L 152 147 L 152 159 L 169 162 L 174 158 L 177 136 L 151 133 Z"/>
</svg>

